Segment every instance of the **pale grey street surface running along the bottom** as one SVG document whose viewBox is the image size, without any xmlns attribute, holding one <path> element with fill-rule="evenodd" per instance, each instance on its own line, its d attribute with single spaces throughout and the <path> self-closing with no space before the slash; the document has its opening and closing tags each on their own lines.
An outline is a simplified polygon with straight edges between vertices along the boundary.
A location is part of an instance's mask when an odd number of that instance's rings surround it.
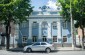
<svg viewBox="0 0 85 55">
<path fill-rule="evenodd" d="M 0 50 L 0 55 L 85 55 L 85 51 L 53 51 L 51 53 L 45 52 L 23 52 L 23 51 L 6 51 Z"/>
</svg>

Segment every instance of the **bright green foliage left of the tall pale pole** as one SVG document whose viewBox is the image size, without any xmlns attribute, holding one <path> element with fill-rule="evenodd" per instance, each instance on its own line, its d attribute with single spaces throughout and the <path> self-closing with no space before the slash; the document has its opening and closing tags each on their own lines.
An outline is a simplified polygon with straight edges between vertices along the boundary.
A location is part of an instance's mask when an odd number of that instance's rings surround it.
<svg viewBox="0 0 85 55">
<path fill-rule="evenodd" d="M 69 20 L 70 18 L 70 2 L 68 0 L 58 0 L 61 3 L 62 6 L 62 12 L 61 14 L 63 15 L 63 17 L 65 17 L 66 20 Z M 67 3 L 67 4 L 66 4 Z M 68 18 L 68 19 L 67 19 Z"/>
</svg>

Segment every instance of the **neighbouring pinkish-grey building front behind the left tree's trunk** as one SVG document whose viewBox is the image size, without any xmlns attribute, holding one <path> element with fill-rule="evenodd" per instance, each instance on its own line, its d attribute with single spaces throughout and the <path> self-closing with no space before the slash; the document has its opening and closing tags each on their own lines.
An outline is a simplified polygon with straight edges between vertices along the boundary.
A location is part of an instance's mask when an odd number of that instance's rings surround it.
<svg viewBox="0 0 85 55">
<path fill-rule="evenodd" d="M 11 33 L 10 33 L 10 46 L 16 46 L 19 33 L 19 25 L 14 24 L 13 22 L 10 23 L 11 26 Z M 0 23 L 0 46 L 6 46 L 6 25 L 3 22 Z"/>
</svg>

